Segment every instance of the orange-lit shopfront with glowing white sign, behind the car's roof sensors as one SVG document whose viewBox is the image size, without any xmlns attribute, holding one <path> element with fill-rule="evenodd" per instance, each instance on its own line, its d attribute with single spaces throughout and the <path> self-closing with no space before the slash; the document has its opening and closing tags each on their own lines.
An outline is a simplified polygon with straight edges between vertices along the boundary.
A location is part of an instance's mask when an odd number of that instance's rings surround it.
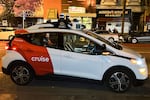
<svg viewBox="0 0 150 100">
<path fill-rule="evenodd" d="M 93 19 L 96 18 L 96 0 L 62 0 L 62 13 L 91 29 L 94 26 Z"/>
</svg>

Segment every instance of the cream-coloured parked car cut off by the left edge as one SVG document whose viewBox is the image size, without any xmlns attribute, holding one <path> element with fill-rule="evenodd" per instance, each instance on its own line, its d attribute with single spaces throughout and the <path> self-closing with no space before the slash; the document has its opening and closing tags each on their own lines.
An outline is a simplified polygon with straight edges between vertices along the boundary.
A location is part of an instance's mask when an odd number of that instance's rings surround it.
<svg viewBox="0 0 150 100">
<path fill-rule="evenodd" d="M 8 40 L 10 36 L 14 35 L 15 28 L 0 27 L 0 40 Z"/>
</svg>

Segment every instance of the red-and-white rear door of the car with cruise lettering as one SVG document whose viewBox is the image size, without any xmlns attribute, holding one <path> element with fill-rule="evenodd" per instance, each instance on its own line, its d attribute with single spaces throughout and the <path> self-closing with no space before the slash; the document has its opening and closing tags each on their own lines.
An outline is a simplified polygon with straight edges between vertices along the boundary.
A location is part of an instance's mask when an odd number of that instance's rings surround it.
<svg viewBox="0 0 150 100">
<path fill-rule="evenodd" d="M 45 34 L 21 35 L 13 42 L 13 45 L 18 47 L 18 52 L 33 67 L 37 75 L 55 74 L 60 71 L 59 50 L 55 49 L 56 46 L 42 45 L 41 40 Z"/>
</svg>

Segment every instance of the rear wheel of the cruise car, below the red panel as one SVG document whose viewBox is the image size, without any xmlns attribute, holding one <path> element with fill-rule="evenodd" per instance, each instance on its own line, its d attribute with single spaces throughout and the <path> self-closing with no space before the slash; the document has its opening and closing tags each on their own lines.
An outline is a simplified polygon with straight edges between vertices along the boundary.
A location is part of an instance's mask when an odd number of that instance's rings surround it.
<svg viewBox="0 0 150 100">
<path fill-rule="evenodd" d="M 34 74 L 28 64 L 15 62 L 11 66 L 10 77 L 17 85 L 27 85 L 33 80 Z"/>
</svg>

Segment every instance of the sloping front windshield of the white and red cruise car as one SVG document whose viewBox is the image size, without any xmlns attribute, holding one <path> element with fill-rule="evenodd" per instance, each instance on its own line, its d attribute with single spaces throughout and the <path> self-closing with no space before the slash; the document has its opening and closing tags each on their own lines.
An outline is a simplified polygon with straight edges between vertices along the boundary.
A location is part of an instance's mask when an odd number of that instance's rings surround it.
<svg viewBox="0 0 150 100">
<path fill-rule="evenodd" d="M 97 34 L 94 33 L 94 32 L 91 32 L 91 31 L 84 31 L 84 33 L 86 33 L 86 34 L 88 34 L 88 35 L 90 35 L 90 36 L 92 36 L 92 37 L 94 37 L 94 38 L 96 38 L 96 39 L 98 39 L 98 40 L 104 42 L 105 44 L 107 44 L 107 45 L 109 45 L 109 46 L 111 46 L 111 47 L 114 47 L 114 48 L 116 48 L 116 49 L 122 50 L 122 47 L 121 47 L 118 43 L 116 43 L 116 42 L 113 42 L 113 43 L 112 43 L 112 42 L 109 42 L 108 40 L 102 38 L 101 36 L 97 35 Z"/>
</svg>

